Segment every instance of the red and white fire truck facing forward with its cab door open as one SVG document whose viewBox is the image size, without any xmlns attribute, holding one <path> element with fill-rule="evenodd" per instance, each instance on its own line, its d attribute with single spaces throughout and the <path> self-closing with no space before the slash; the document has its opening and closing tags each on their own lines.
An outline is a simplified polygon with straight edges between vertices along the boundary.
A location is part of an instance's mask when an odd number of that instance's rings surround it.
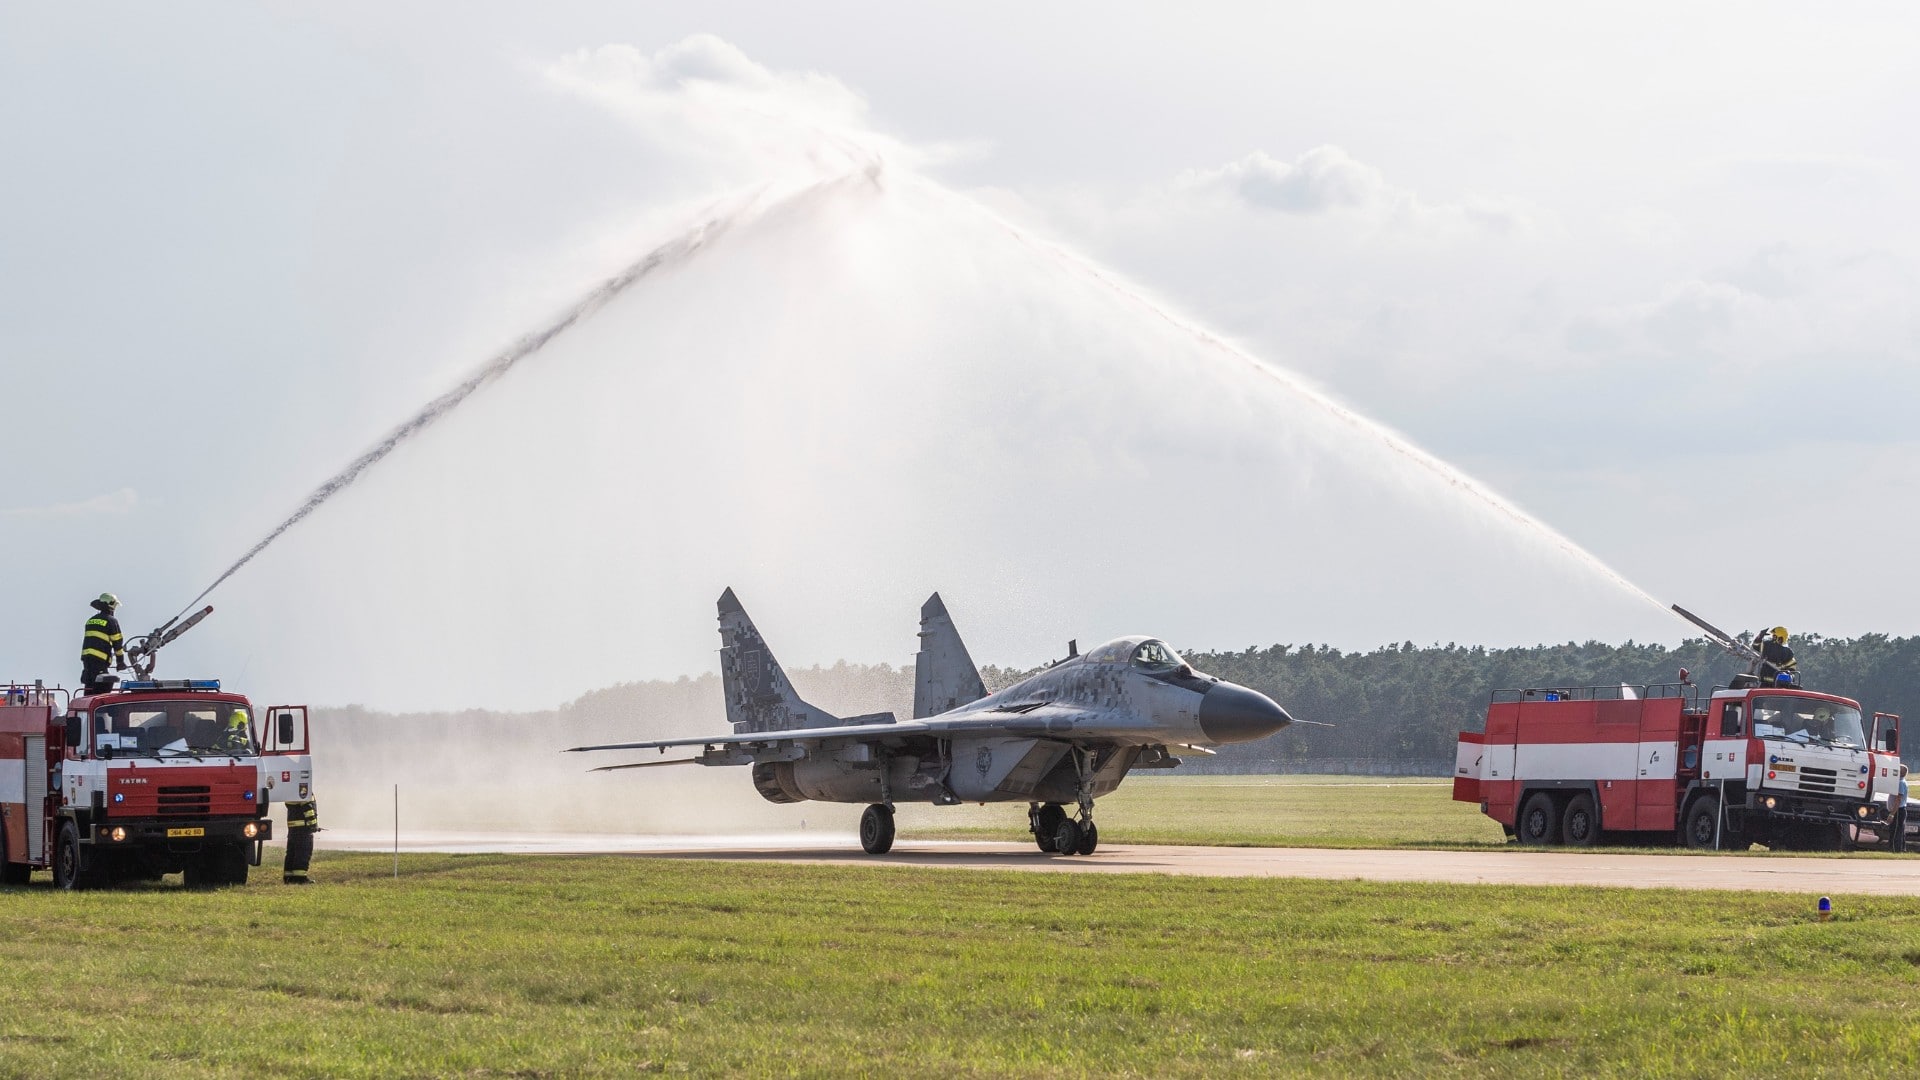
<svg viewBox="0 0 1920 1080">
<path fill-rule="evenodd" d="M 0 882 L 52 869 L 60 888 L 244 884 L 271 801 L 311 799 L 307 709 L 269 723 L 211 678 L 117 690 L 0 684 Z M 234 724 L 234 713 L 246 721 Z"/>
</svg>

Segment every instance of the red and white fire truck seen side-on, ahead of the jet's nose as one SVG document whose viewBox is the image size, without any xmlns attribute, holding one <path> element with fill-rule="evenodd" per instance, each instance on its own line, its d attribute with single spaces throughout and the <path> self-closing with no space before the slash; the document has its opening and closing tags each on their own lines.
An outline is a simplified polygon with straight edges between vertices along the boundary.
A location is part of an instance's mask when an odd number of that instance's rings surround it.
<svg viewBox="0 0 1920 1080">
<path fill-rule="evenodd" d="M 1498 690 L 1461 732 L 1453 798 L 1521 844 L 1682 842 L 1905 849 L 1901 719 L 1745 675 L 1692 684 Z"/>
</svg>

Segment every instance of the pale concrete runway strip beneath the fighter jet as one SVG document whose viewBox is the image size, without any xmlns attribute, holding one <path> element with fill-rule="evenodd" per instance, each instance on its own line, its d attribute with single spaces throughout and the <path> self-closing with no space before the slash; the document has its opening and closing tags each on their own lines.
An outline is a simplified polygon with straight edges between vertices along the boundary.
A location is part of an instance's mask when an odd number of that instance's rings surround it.
<svg viewBox="0 0 1920 1080">
<path fill-rule="evenodd" d="M 321 847 L 390 851 L 392 836 L 323 830 Z M 1713 888 L 1811 896 L 1920 896 L 1920 857 L 1628 855 L 1607 851 L 1348 851 L 1329 847 L 1102 846 L 1043 855 L 1029 844 L 910 840 L 864 855 L 852 836 L 411 834 L 403 851 L 643 855 L 851 867 L 945 867 L 1081 874 L 1198 874 L 1507 886 Z"/>
</svg>

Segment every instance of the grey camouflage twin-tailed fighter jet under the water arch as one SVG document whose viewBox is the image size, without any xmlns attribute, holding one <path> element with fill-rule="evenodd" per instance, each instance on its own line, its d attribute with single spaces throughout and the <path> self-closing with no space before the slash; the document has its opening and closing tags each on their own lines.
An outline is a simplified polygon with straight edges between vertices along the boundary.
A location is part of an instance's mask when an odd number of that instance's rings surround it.
<svg viewBox="0 0 1920 1080">
<path fill-rule="evenodd" d="M 1192 669 L 1165 642 L 1116 638 L 1000 690 L 987 686 L 935 592 L 920 609 L 914 719 L 893 713 L 833 717 L 793 692 L 787 675 L 733 598 L 720 594 L 720 680 L 733 734 L 666 738 L 593 749 L 699 746 L 697 757 L 651 765 L 749 765 L 753 786 L 774 803 L 820 799 L 868 803 L 860 847 L 893 847 L 893 807 L 1027 803 L 1041 851 L 1092 855 L 1100 830 L 1094 799 L 1133 769 L 1173 769 L 1175 749 L 1265 738 L 1294 723 L 1286 709 L 1246 686 Z M 1073 803 L 1079 817 L 1068 817 Z"/>
</svg>

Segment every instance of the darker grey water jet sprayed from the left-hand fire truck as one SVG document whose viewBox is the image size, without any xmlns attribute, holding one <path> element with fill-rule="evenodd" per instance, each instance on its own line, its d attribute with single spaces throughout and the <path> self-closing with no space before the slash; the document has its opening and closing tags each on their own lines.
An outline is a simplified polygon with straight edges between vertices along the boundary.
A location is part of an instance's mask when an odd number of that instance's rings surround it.
<svg viewBox="0 0 1920 1080">
<path fill-rule="evenodd" d="M 818 190 L 824 184 L 812 184 L 808 188 L 803 188 L 803 190 L 799 190 L 795 194 L 785 196 L 783 200 L 780 200 L 780 204 L 795 202 L 801 196 L 804 196 L 804 194 L 808 194 L 812 190 Z M 586 296 L 582 296 L 572 307 L 568 307 L 566 311 L 563 311 L 561 317 L 557 317 L 553 323 L 547 323 L 540 331 L 534 331 L 534 332 L 522 336 L 513 346 L 509 346 L 505 352 L 501 352 L 499 356 L 495 356 L 490 361 L 482 363 L 472 375 L 468 375 L 465 380 L 461 380 L 459 386 L 453 386 L 445 394 L 442 394 L 442 396 L 434 398 L 432 402 L 428 402 L 409 421 L 405 421 L 403 425 L 399 425 L 394 430 L 390 430 L 386 434 L 386 438 L 382 438 L 371 450 L 367 450 L 365 454 L 361 454 L 359 457 L 355 457 L 346 469 L 342 469 L 340 473 L 336 473 L 332 479 L 328 479 L 326 482 L 323 482 L 319 488 L 313 488 L 313 494 L 309 494 L 307 500 L 303 503 L 300 503 L 300 509 L 296 509 L 286 521 L 282 521 L 271 532 L 267 532 L 267 536 L 263 536 L 259 540 L 259 544 L 253 544 L 252 548 L 248 548 L 248 552 L 244 555 L 240 555 L 240 559 L 234 565 L 227 567 L 227 573 L 223 573 L 221 577 L 213 578 L 213 584 L 209 584 L 207 588 L 204 588 L 200 592 L 200 596 L 196 596 L 194 601 L 188 603 L 180 611 L 180 615 L 184 615 L 194 605 L 198 605 L 202 600 L 205 600 L 207 594 L 213 592 L 215 588 L 219 588 L 227 578 L 234 577 L 234 573 L 240 567 L 248 565 L 250 561 L 253 561 L 253 555 L 259 555 L 261 552 L 265 552 L 267 546 L 273 544 L 275 540 L 278 540 L 288 528 L 292 528 L 292 527 L 300 525 L 301 521 L 305 521 L 307 515 L 311 515 L 315 509 L 319 509 L 326 500 L 330 500 L 336 494 L 340 494 L 344 488 L 348 488 L 349 484 L 353 484 L 353 480 L 359 480 L 361 475 L 367 469 L 372 469 L 374 465 L 378 465 L 380 459 L 386 457 L 388 454 L 392 454 L 401 442 L 407 442 L 409 438 L 413 438 L 415 434 L 419 434 L 420 430 L 424 430 L 428 425 L 432 425 L 440 417 L 451 413 L 455 407 L 459 407 L 461 402 L 465 402 L 467 398 L 470 398 L 474 394 L 474 390 L 480 390 L 488 382 L 493 382 L 501 375 L 507 375 L 509 371 L 513 371 L 513 365 L 516 365 L 522 359 L 526 359 L 526 357 L 534 356 L 536 352 L 543 350 L 549 342 L 553 342 L 553 338 L 561 336 L 563 332 L 566 332 L 568 329 L 572 329 L 574 325 L 578 325 L 582 319 L 586 319 L 586 317 L 593 315 L 595 311 L 599 311 L 601 307 L 605 307 L 609 300 L 612 300 L 614 296 L 626 292 L 626 288 L 632 286 L 636 281 L 641 281 L 643 277 L 649 277 L 655 271 L 660 271 L 662 267 L 678 265 L 678 263 L 689 259 L 691 256 L 695 256 L 701 248 L 705 248 L 705 246 L 712 244 L 714 240 L 718 240 L 732 225 L 735 225 L 741 217 L 745 217 L 749 211 L 755 209 L 756 200 L 758 200 L 758 194 L 755 198 L 751 198 L 745 206 L 739 206 L 739 208 L 735 208 L 732 211 L 726 211 L 726 213 L 714 213 L 714 215 L 699 221 L 697 225 L 693 225 L 691 229 L 687 229 L 680 236 L 674 236 L 672 240 L 660 244 L 659 248 L 653 248 L 651 252 L 647 252 L 645 258 L 641 258 L 634 265 L 622 269 L 620 273 L 609 277 L 599 286 L 595 286 L 591 292 L 588 292 Z"/>
</svg>

